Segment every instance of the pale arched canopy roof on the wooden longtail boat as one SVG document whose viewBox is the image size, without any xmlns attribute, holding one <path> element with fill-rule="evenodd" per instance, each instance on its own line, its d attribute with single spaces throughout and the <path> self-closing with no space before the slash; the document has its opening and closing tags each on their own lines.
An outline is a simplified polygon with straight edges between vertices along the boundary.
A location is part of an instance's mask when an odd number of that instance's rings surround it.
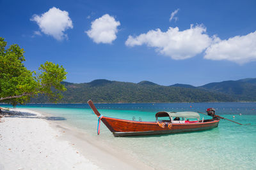
<svg viewBox="0 0 256 170">
<path fill-rule="evenodd" d="M 157 117 L 200 118 L 200 115 L 194 111 L 180 111 L 180 112 L 159 111 L 158 113 L 156 113 L 156 118 Z"/>
</svg>

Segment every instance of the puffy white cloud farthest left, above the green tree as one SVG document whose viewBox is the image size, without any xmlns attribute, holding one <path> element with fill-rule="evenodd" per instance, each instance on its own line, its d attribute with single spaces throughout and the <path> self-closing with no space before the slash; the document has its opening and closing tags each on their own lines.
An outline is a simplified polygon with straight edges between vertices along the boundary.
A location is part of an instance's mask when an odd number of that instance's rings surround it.
<svg viewBox="0 0 256 170">
<path fill-rule="evenodd" d="M 64 32 L 67 29 L 72 29 L 72 20 L 68 17 L 67 11 L 61 11 L 58 8 L 52 7 L 49 11 L 42 15 L 33 15 L 30 19 L 35 21 L 40 27 L 40 31 L 49 36 L 53 36 L 57 40 L 67 38 Z"/>
</svg>

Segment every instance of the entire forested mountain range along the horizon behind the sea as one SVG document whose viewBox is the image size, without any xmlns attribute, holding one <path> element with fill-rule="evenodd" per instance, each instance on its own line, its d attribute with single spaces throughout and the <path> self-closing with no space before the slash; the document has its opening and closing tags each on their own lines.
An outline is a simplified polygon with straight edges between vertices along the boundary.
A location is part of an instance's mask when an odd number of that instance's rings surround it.
<svg viewBox="0 0 256 170">
<path fill-rule="evenodd" d="M 234 102 L 256 101 L 256 78 L 221 81 L 195 87 L 175 84 L 157 85 L 150 81 L 129 83 L 110 80 L 93 80 L 90 83 L 62 82 L 60 103 L 178 103 L 178 102 Z M 31 103 L 49 103 L 45 96 L 31 99 Z"/>
</svg>

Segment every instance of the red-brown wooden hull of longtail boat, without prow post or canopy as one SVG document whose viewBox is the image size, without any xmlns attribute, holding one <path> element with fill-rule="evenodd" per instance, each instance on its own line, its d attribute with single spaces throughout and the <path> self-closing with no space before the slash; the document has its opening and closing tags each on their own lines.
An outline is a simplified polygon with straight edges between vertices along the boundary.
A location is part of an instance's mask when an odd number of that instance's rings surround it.
<svg viewBox="0 0 256 170">
<path fill-rule="evenodd" d="M 102 122 L 113 132 L 114 136 L 139 136 L 151 134 L 171 134 L 179 132 L 204 131 L 218 127 L 220 120 L 205 120 L 205 122 L 166 124 L 161 127 L 157 122 L 137 122 L 118 118 L 102 117 Z"/>
</svg>

